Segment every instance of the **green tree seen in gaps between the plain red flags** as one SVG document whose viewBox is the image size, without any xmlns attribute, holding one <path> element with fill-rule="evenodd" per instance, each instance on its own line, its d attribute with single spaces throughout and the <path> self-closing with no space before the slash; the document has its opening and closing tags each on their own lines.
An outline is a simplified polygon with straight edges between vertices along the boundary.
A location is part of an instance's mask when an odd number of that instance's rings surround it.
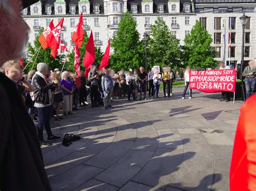
<svg viewBox="0 0 256 191">
<path fill-rule="evenodd" d="M 84 66 L 83 66 L 83 60 L 84 60 L 84 54 L 86 52 L 86 43 L 88 41 L 89 37 L 87 35 L 87 32 L 84 30 L 84 39 L 83 39 L 83 44 L 81 46 L 81 48 L 79 48 L 79 52 L 80 52 L 80 67 L 81 70 L 84 70 Z M 95 63 L 97 66 L 99 66 L 100 61 L 102 61 L 102 50 L 99 46 L 95 46 Z M 74 68 L 74 60 L 75 60 L 75 51 L 71 51 L 71 53 L 68 55 L 68 60 L 65 63 L 65 69 L 66 70 L 71 70 L 73 72 L 75 72 L 75 68 Z"/>
</svg>

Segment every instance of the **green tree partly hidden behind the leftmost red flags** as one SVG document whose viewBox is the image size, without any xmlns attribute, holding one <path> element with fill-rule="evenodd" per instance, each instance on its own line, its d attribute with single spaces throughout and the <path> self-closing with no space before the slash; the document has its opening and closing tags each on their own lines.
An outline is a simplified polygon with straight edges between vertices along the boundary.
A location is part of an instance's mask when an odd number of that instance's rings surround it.
<svg viewBox="0 0 256 191">
<path fill-rule="evenodd" d="M 29 72 L 30 70 L 36 70 L 37 63 L 39 63 L 39 62 L 48 63 L 48 65 L 51 69 L 62 67 L 63 56 L 59 55 L 57 53 L 56 59 L 54 59 L 51 56 L 51 48 L 46 48 L 46 49 L 41 48 L 37 55 L 36 51 L 38 50 L 38 48 L 41 47 L 41 44 L 39 43 L 38 38 L 41 36 L 43 31 L 44 31 L 43 28 L 39 31 L 39 35 L 36 37 L 36 39 L 34 41 L 34 46 L 32 46 L 30 43 L 28 44 L 28 52 L 29 52 L 31 61 L 29 62 L 28 67 L 26 67 L 25 72 Z M 28 63 L 28 60 L 24 60 L 24 66 L 27 63 Z"/>
</svg>

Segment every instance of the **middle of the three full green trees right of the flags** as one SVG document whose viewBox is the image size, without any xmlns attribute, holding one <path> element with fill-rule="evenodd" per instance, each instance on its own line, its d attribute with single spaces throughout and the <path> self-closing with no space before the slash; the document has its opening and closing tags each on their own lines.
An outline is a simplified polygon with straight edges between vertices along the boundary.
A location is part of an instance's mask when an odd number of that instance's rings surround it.
<svg viewBox="0 0 256 191">
<path fill-rule="evenodd" d="M 149 48 L 149 67 L 153 65 L 171 66 L 172 68 L 180 67 L 180 46 L 179 39 L 171 34 L 168 26 L 159 17 L 151 26 Z"/>
</svg>

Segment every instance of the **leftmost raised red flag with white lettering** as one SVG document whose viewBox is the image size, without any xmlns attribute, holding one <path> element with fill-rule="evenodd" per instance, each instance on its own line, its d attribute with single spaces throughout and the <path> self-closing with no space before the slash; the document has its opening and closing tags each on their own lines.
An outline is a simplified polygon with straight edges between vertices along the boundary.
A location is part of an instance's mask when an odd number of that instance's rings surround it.
<svg viewBox="0 0 256 191">
<path fill-rule="evenodd" d="M 44 32 L 41 34 L 41 36 L 38 38 L 39 43 L 42 45 L 42 48 L 49 48 L 51 46 L 51 41 L 54 38 L 52 34 L 52 30 L 54 29 L 53 20 L 51 20 L 50 24 Z"/>
</svg>

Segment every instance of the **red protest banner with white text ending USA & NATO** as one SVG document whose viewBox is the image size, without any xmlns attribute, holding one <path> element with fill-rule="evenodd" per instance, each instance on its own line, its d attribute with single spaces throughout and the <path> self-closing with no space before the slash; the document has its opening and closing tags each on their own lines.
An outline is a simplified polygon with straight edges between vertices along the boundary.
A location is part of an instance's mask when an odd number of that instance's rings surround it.
<svg viewBox="0 0 256 191">
<path fill-rule="evenodd" d="M 205 93 L 235 92 L 236 76 L 235 69 L 191 70 L 190 89 L 197 89 Z"/>
</svg>

